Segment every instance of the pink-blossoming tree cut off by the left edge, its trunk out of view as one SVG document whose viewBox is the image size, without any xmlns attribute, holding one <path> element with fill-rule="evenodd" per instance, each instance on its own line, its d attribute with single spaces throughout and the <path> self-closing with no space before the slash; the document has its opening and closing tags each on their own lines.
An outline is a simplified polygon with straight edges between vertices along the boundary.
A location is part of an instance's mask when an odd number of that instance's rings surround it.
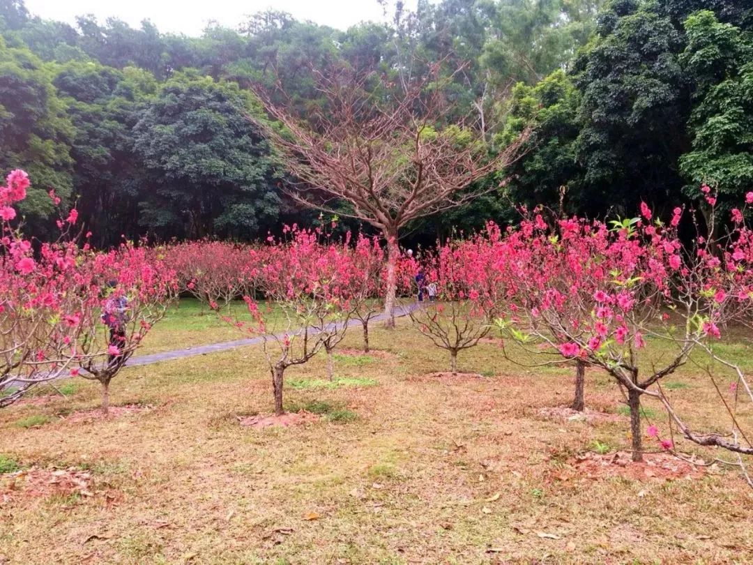
<svg viewBox="0 0 753 565">
<path fill-rule="evenodd" d="M 28 187 L 21 170 L 0 187 L 0 406 L 38 383 L 69 374 L 81 356 L 78 337 L 87 298 L 68 292 L 78 280 L 81 250 L 61 237 L 34 252 L 32 241 L 11 224 L 17 218 L 14 206 Z M 59 222 L 63 235 L 75 221 L 72 210 Z"/>
</svg>

